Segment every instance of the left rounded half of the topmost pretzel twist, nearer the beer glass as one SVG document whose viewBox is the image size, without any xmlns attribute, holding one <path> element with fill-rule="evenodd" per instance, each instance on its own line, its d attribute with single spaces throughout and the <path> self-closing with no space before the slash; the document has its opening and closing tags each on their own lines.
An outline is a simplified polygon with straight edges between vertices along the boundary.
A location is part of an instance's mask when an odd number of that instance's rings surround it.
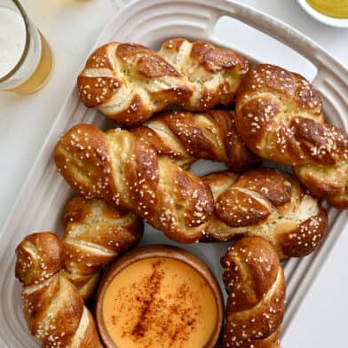
<svg viewBox="0 0 348 348">
<path fill-rule="evenodd" d="M 94 51 L 77 78 L 80 99 L 122 124 L 145 121 L 193 91 L 186 78 L 155 51 L 140 44 L 105 44 Z"/>
</svg>

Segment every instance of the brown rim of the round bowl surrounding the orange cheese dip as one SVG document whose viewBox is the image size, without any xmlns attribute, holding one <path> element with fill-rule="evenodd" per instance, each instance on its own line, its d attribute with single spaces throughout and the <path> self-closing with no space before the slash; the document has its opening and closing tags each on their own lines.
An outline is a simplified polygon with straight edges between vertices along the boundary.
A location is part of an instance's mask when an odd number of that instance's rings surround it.
<svg viewBox="0 0 348 348">
<path fill-rule="evenodd" d="M 181 261 L 186 265 L 191 266 L 194 271 L 201 275 L 202 279 L 206 281 L 210 287 L 211 293 L 215 298 L 217 305 L 217 320 L 215 327 L 208 339 L 207 343 L 203 347 L 197 348 L 213 348 L 218 343 L 218 338 L 220 336 L 221 328 L 224 321 L 224 300 L 221 294 L 221 289 L 218 286 L 218 281 L 215 279 L 214 275 L 210 272 L 210 269 L 205 265 L 202 260 L 195 257 L 193 254 L 187 252 L 184 249 L 179 249 L 172 246 L 146 246 L 143 248 L 138 248 L 130 251 L 123 257 L 119 258 L 114 265 L 108 270 L 107 274 L 100 283 L 97 305 L 96 305 L 96 318 L 97 325 L 99 328 L 99 334 L 106 345 L 107 348 L 123 348 L 115 344 L 114 340 L 109 336 L 107 331 L 107 326 L 104 321 L 103 316 L 103 300 L 107 292 L 107 288 L 110 283 L 115 279 L 116 275 L 123 271 L 124 268 L 130 266 L 131 264 L 144 260 L 150 257 L 165 257 L 172 258 L 177 261 Z M 185 346 L 185 345 L 184 345 Z"/>
</svg>

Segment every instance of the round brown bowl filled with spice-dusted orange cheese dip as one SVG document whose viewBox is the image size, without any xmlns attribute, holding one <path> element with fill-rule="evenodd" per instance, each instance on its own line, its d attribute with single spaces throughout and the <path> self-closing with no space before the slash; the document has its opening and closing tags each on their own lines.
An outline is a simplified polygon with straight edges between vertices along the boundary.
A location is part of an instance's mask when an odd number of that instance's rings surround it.
<svg viewBox="0 0 348 348">
<path fill-rule="evenodd" d="M 116 261 L 99 289 L 97 323 L 107 347 L 213 347 L 222 327 L 217 281 L 185 250 L 151 246 Z"/>
</svg>

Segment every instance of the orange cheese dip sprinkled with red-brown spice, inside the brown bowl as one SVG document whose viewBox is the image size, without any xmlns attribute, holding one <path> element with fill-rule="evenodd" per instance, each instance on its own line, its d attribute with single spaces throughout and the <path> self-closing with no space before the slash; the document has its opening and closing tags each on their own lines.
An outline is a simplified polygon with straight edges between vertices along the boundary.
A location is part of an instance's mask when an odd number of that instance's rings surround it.
<svg viewBox="0 0 348 348">
<path fill-rule="evenodd" d="M 118 273 L 102 302 L 107 332 L 118 348 L 201 348 L 218 318 L 202 275 L 169 257 L 149 257 Z"/>
</svg>

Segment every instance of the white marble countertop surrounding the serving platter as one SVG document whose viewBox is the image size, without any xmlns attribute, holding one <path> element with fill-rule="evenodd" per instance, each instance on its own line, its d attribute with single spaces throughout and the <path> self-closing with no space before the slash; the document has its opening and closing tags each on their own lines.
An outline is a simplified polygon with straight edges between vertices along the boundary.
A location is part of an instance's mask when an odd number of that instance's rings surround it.
<svg viewBox="0 0 348 348">
<path fill-rule="evenodd" d="M 127 0 L 21 2 L 51 44 L 55 67 L 49 83 L 36 94 L 20 96 L 0 92 L 0 226 L 4 225 L 59 107 L 83 67 L 86 53 L 91 50 L 100 29 L 117 11 L 117 4 L 126 3 Z M 295 0 L 240 2 L 286 21 L 321 44 L 348 67 L 348 29 L 320 24 L 303 12 Z M 268 44 L 269 49 L 265 50 L 264 38 L 250 41 L 249 36 L 243 36 L 241 32 L 237 35 L 232 24 L 229 26 L 227 22 L 221 24 L 218 28 L 221 36 L 226 36 L 237 46 L 240 44 L 253 53 L 255 51 L 264 60 L 271 59 L 277 63 L 279 58 L 278 64 L 311 77 L 310 66 L 293 53 L 284 51 L 277 57 L 274 50 L 283 49 Z M 283 341 L 285 348 L 348 346 L 345 335 L 345 315 L 348 312 L 345 245 L 348 245 L 347 233 L 336 243 L 309 296 L 297 312 Z"/>
</svg>

